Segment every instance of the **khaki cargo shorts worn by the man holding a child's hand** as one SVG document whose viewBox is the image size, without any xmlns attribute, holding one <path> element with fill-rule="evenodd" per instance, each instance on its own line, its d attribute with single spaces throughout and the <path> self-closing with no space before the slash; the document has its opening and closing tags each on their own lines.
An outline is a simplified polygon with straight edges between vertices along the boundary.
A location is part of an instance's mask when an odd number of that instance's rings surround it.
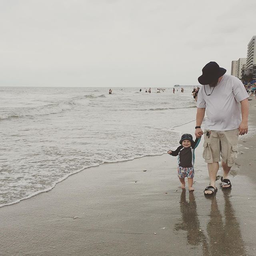
<svg viewBox="0 0 256 256">
<path fill-rule="evenodd" d="M 237 158 L 238 129 L 229 131 L 211 131 L 206 136 L 204 131 L 204 152 L 203 158 L 206 163 L 222 162 L 231 167 Z"/>
</svg>

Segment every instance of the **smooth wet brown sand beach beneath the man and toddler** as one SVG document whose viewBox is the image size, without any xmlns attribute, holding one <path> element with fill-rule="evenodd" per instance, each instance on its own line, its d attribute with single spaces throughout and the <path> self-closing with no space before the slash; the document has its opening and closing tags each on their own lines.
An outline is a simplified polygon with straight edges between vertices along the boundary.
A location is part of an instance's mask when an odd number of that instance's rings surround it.
<svg viewBox="0 0 256 256">
<path fill-rule="evenodd" d="M 255 98 L 250 109 L 232 190 L 219 181 L 216 196 L 204 197 L 202 142 L 194 192 L 178 187 L 177 158 L 167 154 L 102 164 L 0 208 L 0 255 L 256 255 Z"/>
</svg>

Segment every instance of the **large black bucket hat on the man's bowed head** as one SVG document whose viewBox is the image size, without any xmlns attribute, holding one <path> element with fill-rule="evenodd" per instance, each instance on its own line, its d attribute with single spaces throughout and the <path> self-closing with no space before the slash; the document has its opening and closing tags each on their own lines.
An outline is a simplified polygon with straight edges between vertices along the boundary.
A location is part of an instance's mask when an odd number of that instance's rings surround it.
<svg viewBox="0 0 256 256">
<path fill-rule="evenodd" d="M 227 70 L 225 68 L 220 68 L 220 66 L 216 62 L 211 61 L 203 67 L 203 74 L 202 76 L 198 77 L 198 82 L 202 85 L 210 84 L 215 79 L 223 76 L 226 73 L 226 71 Z"/>
</svg>

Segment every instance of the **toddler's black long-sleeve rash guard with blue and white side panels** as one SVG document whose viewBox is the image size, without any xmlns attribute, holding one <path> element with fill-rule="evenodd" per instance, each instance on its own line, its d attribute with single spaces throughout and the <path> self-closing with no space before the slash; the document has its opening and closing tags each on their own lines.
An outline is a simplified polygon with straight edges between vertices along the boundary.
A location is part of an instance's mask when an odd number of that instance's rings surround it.
<svg viewBox="0 0 256 256">
<path fill-rule="evenodd" d="M 172 151 L 170 155 L 178 156 L 178 164 L 182 167 L 193 167 L 195 161 L 194 149 L 198 146 L 201 138 L 196 138 L 196 140 L 191 144 L 191 147 L 184 148 L 182 145 L 179 146 L 175 151 Z"/>
</svg>

